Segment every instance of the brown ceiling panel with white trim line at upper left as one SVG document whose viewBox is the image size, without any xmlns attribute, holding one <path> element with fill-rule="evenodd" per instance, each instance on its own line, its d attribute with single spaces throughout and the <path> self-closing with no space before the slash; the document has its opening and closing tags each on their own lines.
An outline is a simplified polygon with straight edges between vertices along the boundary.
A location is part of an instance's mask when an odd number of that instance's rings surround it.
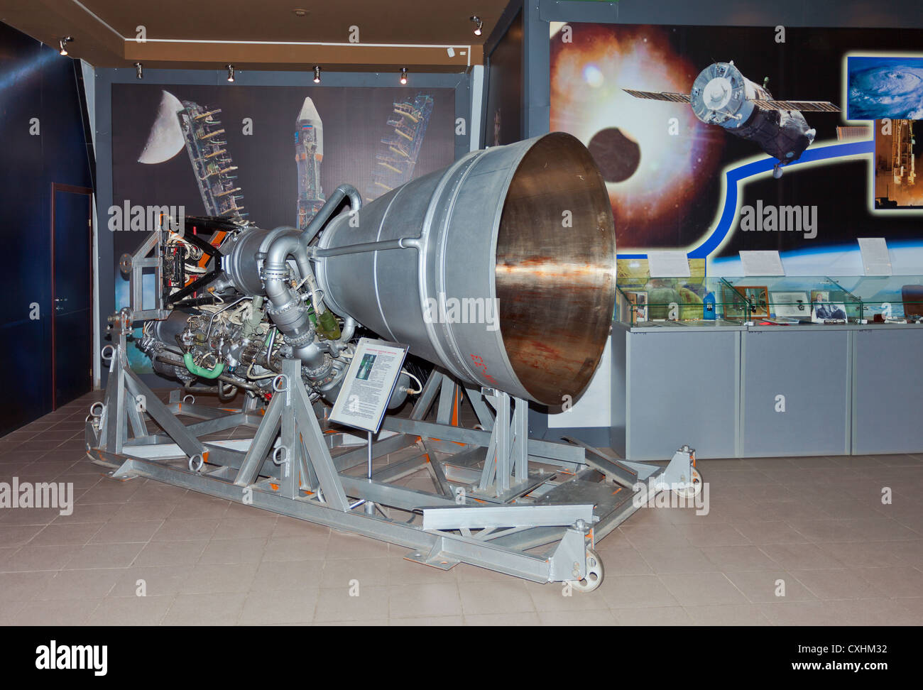
<svg viewBox="0 0 923 690">
<path fill-rule="evenodd" d="M 0 0 L 0 20 L 97 66 L 459 72 L 509 0 Z M 298 16 L 294 10 L 303 10 Z M 484 21 L 474 36 L 469 20 Z M 143 26 L 146 42 L 136 41 Z M 359 44 L 350 41 L 358 28 Z M 327 43 L 327 45 L 325 45 Z M 330 44 L 335 45 L 330 45 Z M 448 50 L 452 47 L 452 50 Z"/>
</svg>

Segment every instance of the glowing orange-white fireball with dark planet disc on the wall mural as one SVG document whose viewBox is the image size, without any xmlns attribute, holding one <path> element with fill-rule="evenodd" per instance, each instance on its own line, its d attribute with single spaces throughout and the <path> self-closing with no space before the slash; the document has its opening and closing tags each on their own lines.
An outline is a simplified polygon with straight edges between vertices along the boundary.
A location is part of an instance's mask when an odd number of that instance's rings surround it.
<svg viewBox="0 0 923 690">
<path fill-rule="evenodd" d="M 556 31 L 557 29 L 557 31 Z M 657 27 L 570 25 L 569 42 L 551 27 L 551 131 L 590 150 L 605 180 L 619 250 L 674 246 L 677 217 L 717 202 L 725 146 L 691 108 L 652 107 L 623 89 L 689 93 L 699 65 L 677 53 Z"/>
</svg>

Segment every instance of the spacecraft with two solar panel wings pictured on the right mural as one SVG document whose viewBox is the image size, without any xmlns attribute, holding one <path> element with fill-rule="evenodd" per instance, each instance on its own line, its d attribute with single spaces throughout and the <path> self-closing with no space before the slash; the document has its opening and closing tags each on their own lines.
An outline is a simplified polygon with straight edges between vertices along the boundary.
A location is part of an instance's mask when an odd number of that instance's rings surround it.
<svg viewBox="0 0 923 690">
<path fill-rule="evenodd" d="M 759 144 L 778 161 L 773 168 L 776 178 L 782 176 L 782 166 L 801 157 L 817 134 L 802 111 L 840 112 L 830 101 L 776 101 L 765 82 L 759 86 L 744 77 L 733 60 L 705 67 L 689 94 L 623 90 L 639 99 L 689 103 L 695 116 L 706 125 L 724 127 L 737 137 Z"/>
</svg>

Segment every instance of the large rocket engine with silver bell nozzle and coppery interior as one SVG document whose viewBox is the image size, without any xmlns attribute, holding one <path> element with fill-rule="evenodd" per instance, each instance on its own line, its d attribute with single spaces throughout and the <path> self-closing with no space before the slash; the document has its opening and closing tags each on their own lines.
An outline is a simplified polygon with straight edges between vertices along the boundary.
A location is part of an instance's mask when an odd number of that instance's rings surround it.
<svg viewBox="0 0 923 690">
<path fill-rule="evenodd" d="M 552 133 L 474 151 L 365 207 L 342 184 L 304 230 L 186 218 L 123 256 L 123 318 L 143 323 L 156 371 L 222 397 L 268 399 L 297 359 L 311 398 L 336 399 L 362 325 L 462 381 L 556 405 L 599 363 L 615 261 L 603 179 L 579 140 Z M 446 318 L 447 300 L 494 305 L 494 318 Z"/>
</svg>

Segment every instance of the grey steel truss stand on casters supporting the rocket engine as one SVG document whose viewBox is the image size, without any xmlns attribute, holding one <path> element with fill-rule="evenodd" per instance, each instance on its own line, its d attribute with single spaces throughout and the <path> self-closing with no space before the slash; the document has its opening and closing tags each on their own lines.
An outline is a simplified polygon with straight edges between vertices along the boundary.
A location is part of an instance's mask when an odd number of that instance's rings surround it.
<svg viewBox="0 0 923 690">
<path fill-rule="evenodd" d="M 112 356 L 105 397 L 90 409 L 86 427 L 88 455 L 110 477 L 146 477 L 389 541 L 425 565 L 468 563 L 596 589 L 603 565 L 595 541 L 637 510 L 649 487 L 669 488 L 667 479 L 686 482 L 695 471 L 689 448 L 664 467 L 531 439 L 525 401 L 463 387 L 437 370 L 409 418 L 386 417 L 371 455 L 414 446 L 419 452 L 369 478 L 368 447 L 323 419 L 325 408 L 316 409 L 302 383 L 300 362 L 283 363 L 262 415 L 251 400 L 243 409 L 222 410 L 180 399 L 179 391 L 163 403 L 128 366 L 125 331 L 117 346 L 106 347 Z M 459 424 L 462 396 L 480 428 Z M 433 408 L 435 420 L 426 421 Z M 238 426 L 252 428 L 253 438 L 201 440 Z M 435 491 L 395 483 L 423 469 Z"/>
</svg>

